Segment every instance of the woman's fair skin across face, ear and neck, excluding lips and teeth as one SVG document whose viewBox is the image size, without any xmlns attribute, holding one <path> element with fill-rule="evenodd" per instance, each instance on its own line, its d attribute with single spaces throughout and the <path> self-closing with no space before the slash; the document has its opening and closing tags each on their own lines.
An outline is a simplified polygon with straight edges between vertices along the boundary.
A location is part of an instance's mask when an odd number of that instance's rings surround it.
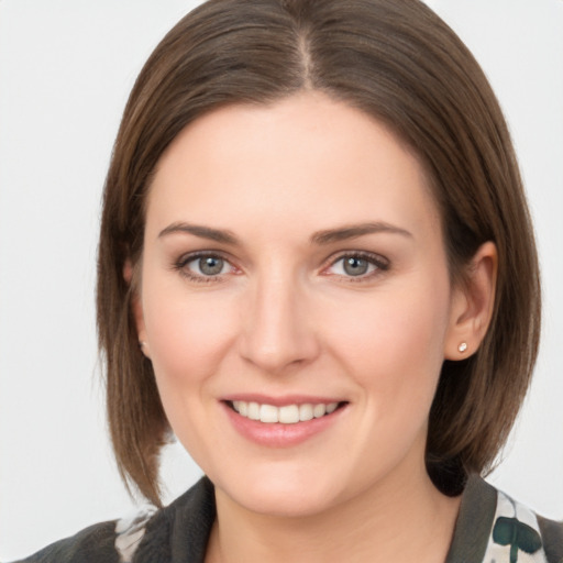
<svg viewBox="0 0 563 563">
<path fill-rule="evenodd" d="M 365 223 L 386 229 L 311 240 Z M 206 276 L 197 252 L 221 273 Z M 358 252 L 373 262 L 353 276 L 342 257 Z M 444 560 L 459 499 L 427 475 L 428 415 L 444 357 L 485 334 L 492 243 L 468 272 L 452 287 L 417 157 L 345 103 L 230 106 L 178 135 L 151 187 L 134 313 L 172 428 L 216 485 L 208 561 Z M 235 430 L 236 394 L 345 406 L 274 448 Z"/>
</svg>

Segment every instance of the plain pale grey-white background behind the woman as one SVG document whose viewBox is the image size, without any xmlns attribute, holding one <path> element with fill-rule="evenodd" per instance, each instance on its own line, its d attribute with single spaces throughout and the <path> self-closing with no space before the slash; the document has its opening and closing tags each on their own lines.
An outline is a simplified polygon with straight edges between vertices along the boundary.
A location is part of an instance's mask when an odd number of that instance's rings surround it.
<svg viewBox="0 0 563 563">
<path fill-rule="evenodd" d="M 0 559 L 134 508 L 113 465 L 99 383 L 99 201 L 133 80 L 196 3 L 0 0 Z M 544 276 L 536 379 L 489 481 L 561 518 L 563 1 L 429 3 L 472 48 L 506 111 Z M 200 471 L 173 445 L 164 475 L 169 500 Z"/>
</svg>

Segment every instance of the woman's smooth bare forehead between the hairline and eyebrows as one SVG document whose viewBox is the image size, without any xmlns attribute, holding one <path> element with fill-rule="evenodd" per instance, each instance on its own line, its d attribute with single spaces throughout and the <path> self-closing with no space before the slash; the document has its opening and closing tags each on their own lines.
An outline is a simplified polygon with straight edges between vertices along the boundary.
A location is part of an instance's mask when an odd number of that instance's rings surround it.
<svg viewBox="0 0 563 563">
<path fill-rule="evenodd" d="M 185 128 L 161 157 L 147 229 L 187 219 L 230 227 L 238 214 L 263 225 L 291 218 L 296 229 L 439 223 L 412 152 L 366 113 L 318 92 L 218 109 Z"/>
</svg>

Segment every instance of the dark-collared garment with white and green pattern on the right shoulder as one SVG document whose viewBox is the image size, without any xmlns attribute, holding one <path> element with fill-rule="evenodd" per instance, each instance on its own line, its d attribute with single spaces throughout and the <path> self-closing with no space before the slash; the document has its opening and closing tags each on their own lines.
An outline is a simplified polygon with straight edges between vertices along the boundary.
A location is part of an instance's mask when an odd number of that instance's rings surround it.
<svg viewBox="0 0 563 563">
<path fill-rule="evenodd" d="M 473 476 L 465 488 L 449 562 L 563 563 L 563 522 L 549 520 Z"/>
</svg>

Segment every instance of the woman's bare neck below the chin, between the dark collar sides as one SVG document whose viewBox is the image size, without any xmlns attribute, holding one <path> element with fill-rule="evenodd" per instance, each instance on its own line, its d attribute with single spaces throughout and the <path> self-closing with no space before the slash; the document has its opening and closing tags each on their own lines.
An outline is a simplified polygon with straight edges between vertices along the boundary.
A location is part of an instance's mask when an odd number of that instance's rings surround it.
<svg viewBox="0 0 563 563">
<path fill-rule="evenodd" d="M 207 563 L 445 561 L 461 498 L 442 495 L 423 467 L 408 479 L 385 481 L 299 517 L 256 514 L 216 489 Z"/>
</svg>

